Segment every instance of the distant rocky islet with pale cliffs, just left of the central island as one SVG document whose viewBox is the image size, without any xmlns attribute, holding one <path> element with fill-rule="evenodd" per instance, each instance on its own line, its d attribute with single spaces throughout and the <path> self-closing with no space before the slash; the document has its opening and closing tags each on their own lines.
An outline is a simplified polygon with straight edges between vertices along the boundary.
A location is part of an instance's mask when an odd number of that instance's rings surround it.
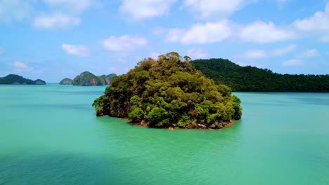
<svg viewBox="0 0 329 185">
<path fill-rule="evenodd" d="M 110 82 L 116 77 L 116 74 L 96 76 L 89 71 L 84 71 L 73 80 L 70 78 L 64 78 L 60 81 L 60 85 L 110 85 Z"/>
</svg>

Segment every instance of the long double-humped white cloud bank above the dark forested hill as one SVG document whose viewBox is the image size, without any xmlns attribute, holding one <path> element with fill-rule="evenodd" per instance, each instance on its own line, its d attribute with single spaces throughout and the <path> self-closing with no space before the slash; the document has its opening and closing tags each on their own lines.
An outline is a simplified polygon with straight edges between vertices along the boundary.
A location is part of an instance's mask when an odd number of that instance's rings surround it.
<svg viewBox="0 0 329 185">
<path fill-rule="evenodd" d="M 169 29 L 167 42 L 218 43 L 234 39 L 250 43 L 275 43 L 297 38 L 297 34 L 288 28 L 277 27 L 273 22 L 252 22 L 249 25 L 238 25 L 228 20 L 205 22 L 192 25 L 189 29 Z"/>
</svg>

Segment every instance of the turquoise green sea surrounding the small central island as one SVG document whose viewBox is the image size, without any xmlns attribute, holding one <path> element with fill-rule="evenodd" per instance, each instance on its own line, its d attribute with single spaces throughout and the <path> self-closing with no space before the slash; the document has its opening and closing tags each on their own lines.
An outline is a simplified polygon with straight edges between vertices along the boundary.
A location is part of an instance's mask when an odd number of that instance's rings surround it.
<svg viewBox="0 0 329 185">
<path fill-rule="evenodd" d="M 0 85 L 0 184 L 329 184 L 329 93 L 234 93 L 224 130 L 97 118 L 104 86 Z"/>
</svg>

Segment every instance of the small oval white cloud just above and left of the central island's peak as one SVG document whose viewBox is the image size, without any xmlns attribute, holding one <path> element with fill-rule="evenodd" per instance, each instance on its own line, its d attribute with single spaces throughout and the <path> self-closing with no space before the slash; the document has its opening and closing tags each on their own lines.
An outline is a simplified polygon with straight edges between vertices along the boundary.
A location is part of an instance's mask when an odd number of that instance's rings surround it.
<svg viewBox="0 0 329 185">
<path fill-rule="evenodd" d="M 102 42 L 106 50 L 115 52 L 127 52 L 136 50 L 148 44 L 148 40 L 138 36 L 110 36 Z"/>
</svg>

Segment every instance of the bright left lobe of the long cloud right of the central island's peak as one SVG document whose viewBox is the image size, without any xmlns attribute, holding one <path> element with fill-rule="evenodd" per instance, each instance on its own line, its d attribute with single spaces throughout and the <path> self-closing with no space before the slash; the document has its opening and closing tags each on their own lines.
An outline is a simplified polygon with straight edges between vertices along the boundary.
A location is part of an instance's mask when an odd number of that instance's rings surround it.
<svg viewBox="0 0 329 185">
<path fill-rule="evenodd" d="M 167 42 L 192 43 L 217 43 L 231 36 L 231 26 L 227 20 L 219 22 L 206 22 L 205 24 L 192 25 L 190 29 L 169 29 Z"/>
</svg>

